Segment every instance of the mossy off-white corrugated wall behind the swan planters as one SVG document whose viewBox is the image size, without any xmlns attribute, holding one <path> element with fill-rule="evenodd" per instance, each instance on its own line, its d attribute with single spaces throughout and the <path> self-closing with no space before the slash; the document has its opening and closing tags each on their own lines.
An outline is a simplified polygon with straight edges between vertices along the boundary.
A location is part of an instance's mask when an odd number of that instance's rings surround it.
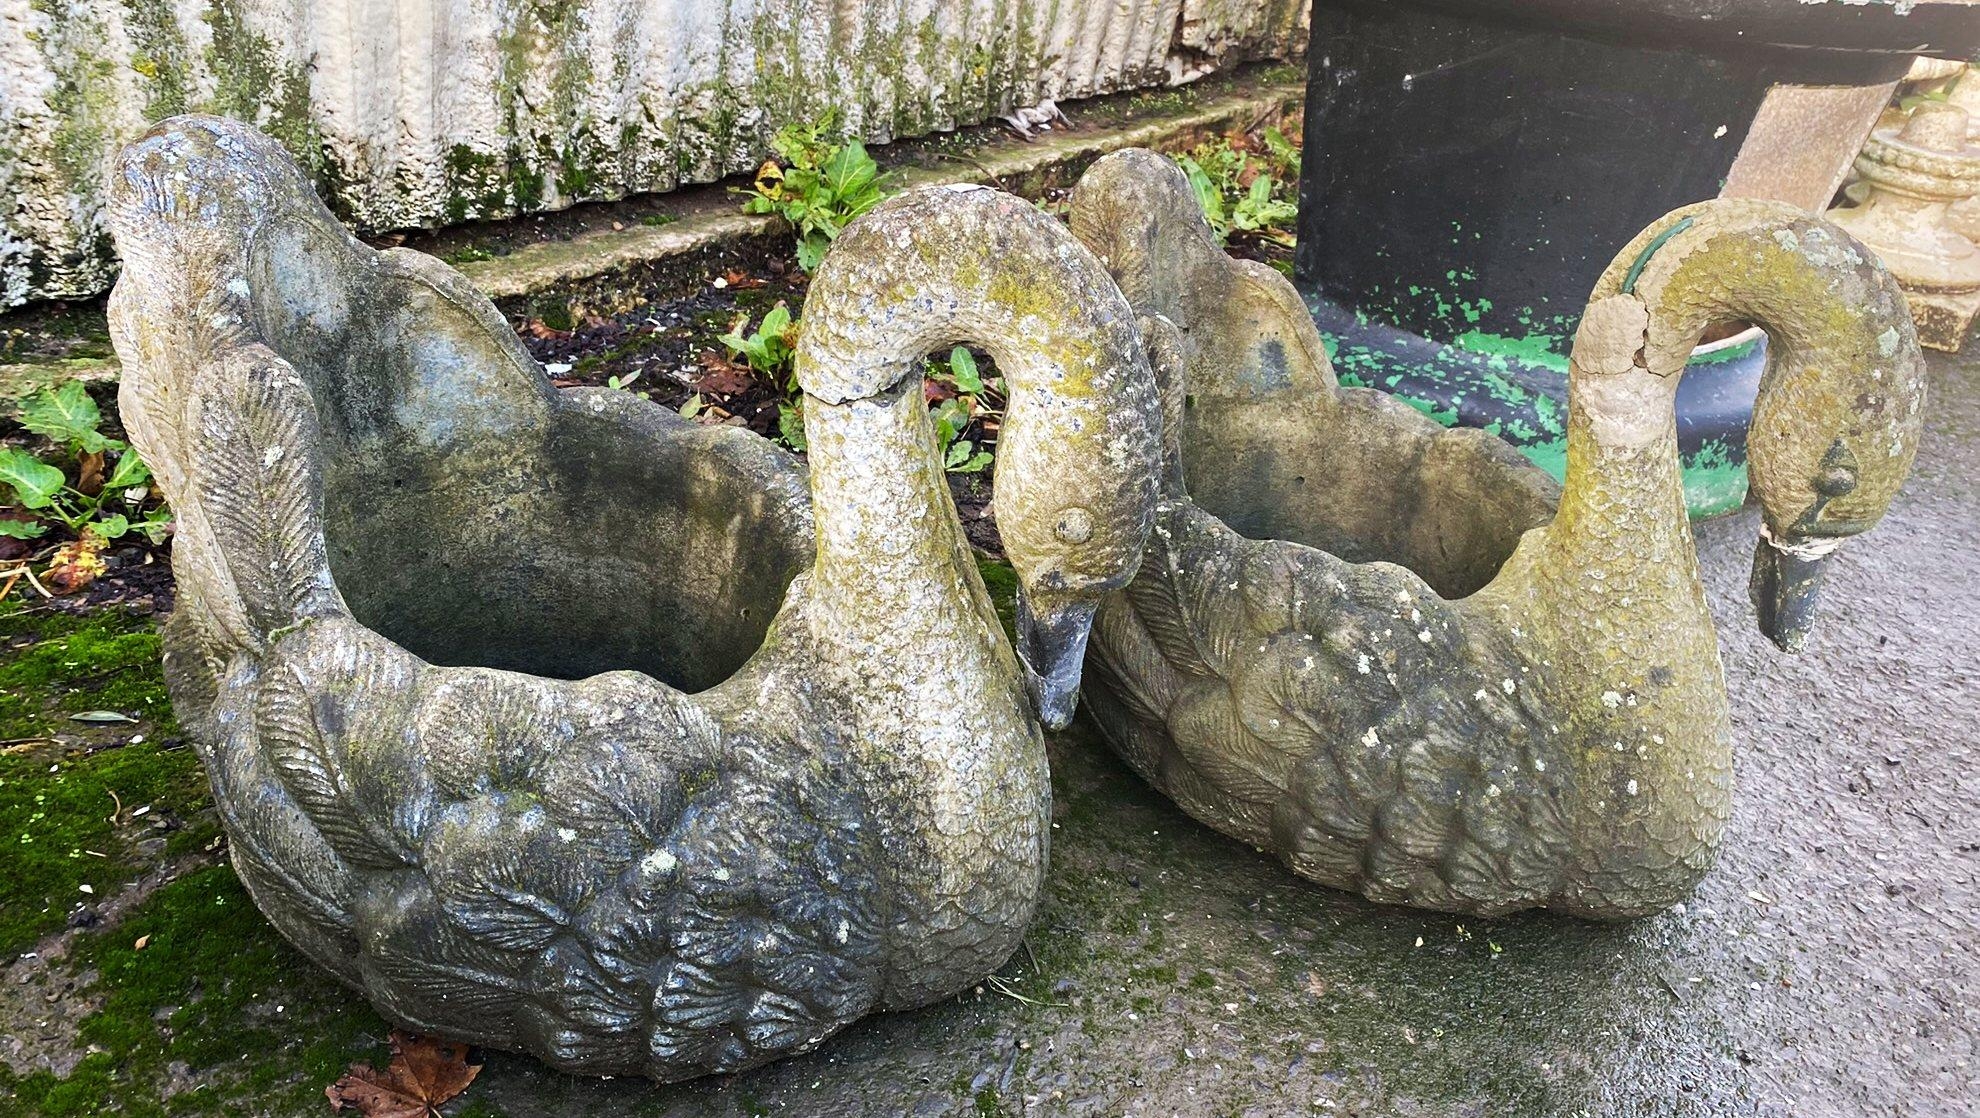
<svg viewBox="0 0 1980 1118">
<path fill-rule="evenodd" d="M 103 162 L 152 121 L 277 137 L 346 220 L 453 224 L 750 170 L 1305 47 L 1303 0 L 0 2 L 0 307 L 109 287 Z"/>
</svg>

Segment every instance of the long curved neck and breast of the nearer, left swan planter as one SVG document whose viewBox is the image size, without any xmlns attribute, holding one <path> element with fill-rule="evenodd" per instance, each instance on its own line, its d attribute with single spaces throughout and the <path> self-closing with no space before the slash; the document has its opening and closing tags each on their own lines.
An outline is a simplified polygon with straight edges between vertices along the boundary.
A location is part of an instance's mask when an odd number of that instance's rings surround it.
<svg viewBox="0 0 1980 1118">
<path fill-rule="evenodd" d="M 1028 590 L 1125 582 L 1152 522 L 1158 404 L 1133 313 L 1101 263 L 1028 202 L 917 190 L 849 226 L 820 265 L 798 342 L 818 562 L 808 673 L 855 710 L 851 748 L 901 851 L 899 966 L 921 1005 L 996 968 L 1041 886 L 1049 782 L 1026 677 L 948 495 L 921 392 L 925 354 L 990 350 L 1006 380 L 998 520 Z M 1040 546 L 1085 503 L 1083 546 Z"/>
</svg>

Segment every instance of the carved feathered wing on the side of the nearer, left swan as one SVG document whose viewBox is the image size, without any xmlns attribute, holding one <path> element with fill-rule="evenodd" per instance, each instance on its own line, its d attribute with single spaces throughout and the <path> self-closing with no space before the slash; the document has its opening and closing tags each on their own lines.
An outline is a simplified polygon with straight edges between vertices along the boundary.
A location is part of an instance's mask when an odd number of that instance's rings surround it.
<svg viewBox="0 0 1980 1118">
<path fill-rule="evenodd" d="M 830 748 L 727 734 L 644 675 L 420 665 L 343 619 L 226 695 L 251 697 L 224 712 L 251 740 L 214 750 L 242 877 L 398 1021 L 685 1078 L 875 1005 L 881 861 Z"/>
</svg>

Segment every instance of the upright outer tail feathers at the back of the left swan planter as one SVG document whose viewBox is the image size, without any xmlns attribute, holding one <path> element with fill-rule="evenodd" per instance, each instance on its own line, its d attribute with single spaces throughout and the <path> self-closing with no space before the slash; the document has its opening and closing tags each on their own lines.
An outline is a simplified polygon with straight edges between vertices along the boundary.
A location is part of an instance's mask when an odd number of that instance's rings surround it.
<svg viewBox="0 0 1980 1118">
<path fill-rule="evenodd" d="M 119 156 L 109 196 L 127 277 L 109 303 L 127 354 L 119 410 L 172 495 L 174 564 L 196 572 L 170 621 L 192 651 L 168 657 L 166 677 L 200 712 L 236 651 L 345 611 L 323 536 L 317 404 L 257 340 L 248 299 L 259 226 L 321 202 L 263 148 L 279 152 L 230 121 L 182 117 Z"/>
</svg>

